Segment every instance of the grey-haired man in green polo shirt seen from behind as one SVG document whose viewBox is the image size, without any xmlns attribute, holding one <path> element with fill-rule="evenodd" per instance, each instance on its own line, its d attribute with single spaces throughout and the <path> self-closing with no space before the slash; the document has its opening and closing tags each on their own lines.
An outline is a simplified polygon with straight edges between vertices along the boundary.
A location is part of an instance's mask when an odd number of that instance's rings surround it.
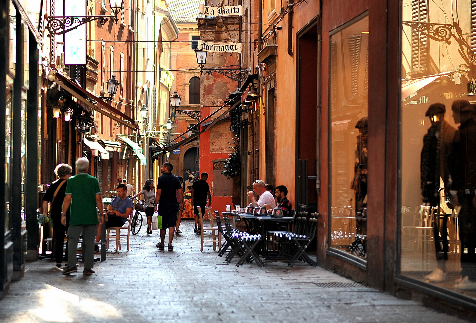
<svg viewBox="0 0 476 323">
<path fill-rule="evenodd" d="M 102 204 L 99 181 L 96 177 L 88 174 L 89 160 L 85 157 L 76 161 L 75 176 L 71 176 L 66 183 L 66 196 L 63 202 L 63 213 L 61 223 L 66 225 L 66 214 L 69 206 L 69 228 L 68 228 L 68 263 L 70 266 L 63 271 L 64 275 L 76 273 L 76 253 L 78 252 L 78 241 L 81 232 L 83 233 L 83 274 L 95 273 L 94 266 L 94 241 L 98 231 L 98 223 L 104 222 L 104 206 Z M 97 206 L 97 208 L 96 208 Z M 99 209 L 99 214 L 98 214 Z"/>
</svg>

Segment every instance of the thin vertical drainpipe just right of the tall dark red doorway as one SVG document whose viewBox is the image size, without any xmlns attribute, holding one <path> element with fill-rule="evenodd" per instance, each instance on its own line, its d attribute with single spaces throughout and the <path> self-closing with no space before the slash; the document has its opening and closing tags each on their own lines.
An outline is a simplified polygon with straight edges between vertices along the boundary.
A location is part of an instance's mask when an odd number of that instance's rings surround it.
<svg viewBox="0 0 476 323">
<path fill-rule="evenodd" d="M 317 24 L 317 147 L 316 147 L 316 192 L 321 194 L 321 61 L 322 61 L 322 0 L 319 0 L 319 22 Z"/>
</svg>

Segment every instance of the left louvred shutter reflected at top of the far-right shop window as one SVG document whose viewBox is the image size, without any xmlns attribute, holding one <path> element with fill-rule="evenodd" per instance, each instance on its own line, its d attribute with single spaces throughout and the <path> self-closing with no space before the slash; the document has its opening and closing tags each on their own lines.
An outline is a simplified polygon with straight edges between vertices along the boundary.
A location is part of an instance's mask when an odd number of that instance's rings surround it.
<svg viewBox="0 0 476 323">
<path fill-rule="evenodd" d="M 428 21 L 428 0 L 412 0 L 412 21 Z M 412 69 L 425 70 L 428 66 L 428 38 L 412 29 Z"/>
</svg>

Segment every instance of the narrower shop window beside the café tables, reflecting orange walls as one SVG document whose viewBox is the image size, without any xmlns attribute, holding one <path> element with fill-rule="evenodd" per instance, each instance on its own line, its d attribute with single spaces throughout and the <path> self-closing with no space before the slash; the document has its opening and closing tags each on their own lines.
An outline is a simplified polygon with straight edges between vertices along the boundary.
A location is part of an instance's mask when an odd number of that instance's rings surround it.
<svg viewBox="0 0 476 323">
<path fill-rule="evenodd" d="M 367 255 L 368 16 L 330 36 L 331 245 Z"/>
</svg>

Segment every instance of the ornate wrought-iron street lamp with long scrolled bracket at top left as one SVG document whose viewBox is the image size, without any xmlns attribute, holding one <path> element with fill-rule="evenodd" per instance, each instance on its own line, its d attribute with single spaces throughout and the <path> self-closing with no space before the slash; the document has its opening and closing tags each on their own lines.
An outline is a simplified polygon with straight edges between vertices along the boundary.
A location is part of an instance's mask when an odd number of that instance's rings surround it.
<svg viewBox="0 0 476 323">
<path fill-rule="evenodd" d="M 109 6 L 114 13 L 113 19 L 118 23 L 118 15 L 123 6 L 123 0 L 109 0 Z M 93 20 L 99 20 L 104 25 L 111 16 L 51 16 L 46 17 L 46 29 L 49 31 L 48 37 L 52 35 L 62 35 L 78 28 Z"/>
</svg>

